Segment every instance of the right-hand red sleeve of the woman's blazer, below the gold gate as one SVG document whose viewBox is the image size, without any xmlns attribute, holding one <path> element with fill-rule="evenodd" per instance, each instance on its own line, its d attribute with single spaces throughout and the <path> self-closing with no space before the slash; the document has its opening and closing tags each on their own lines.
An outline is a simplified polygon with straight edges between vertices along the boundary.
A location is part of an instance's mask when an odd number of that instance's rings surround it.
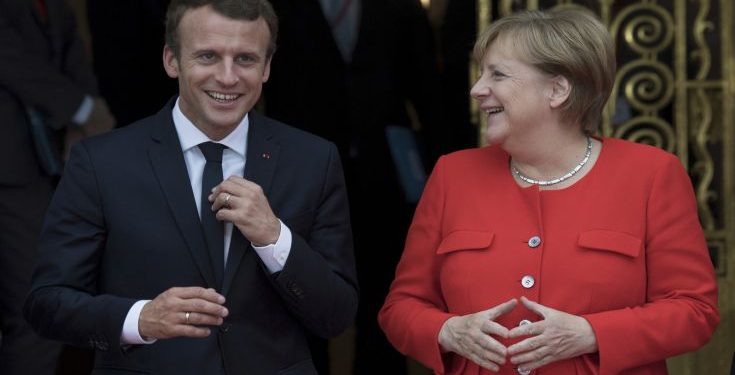
<svg viewBox="0 0 735 375">
<path fill-rule="evenodd" d="M 653 178 L 646 226 L 647 302 L 584 316 L 597 337 L 602 375 L 697 349 L 719 322 L 691 181 L 673 156 Z"/>
</svg>

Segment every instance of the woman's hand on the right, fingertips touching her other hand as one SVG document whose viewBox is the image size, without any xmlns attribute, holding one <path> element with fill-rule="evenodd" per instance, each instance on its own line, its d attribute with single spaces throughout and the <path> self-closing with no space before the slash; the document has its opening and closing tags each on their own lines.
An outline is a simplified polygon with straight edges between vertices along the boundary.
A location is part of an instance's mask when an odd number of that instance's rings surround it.
<svg viewBox="0 0 735 375">
<path fill-rule="evenodd" d="M 521 297 L 521 303 L 542 318 L 513 328 L 509 338 L 530 336 L 508 347 L 510 362 L 534 370 L 552 362 L 597 351 L 597 339 L 586 319 L 554 310 Z"/>
</svg>

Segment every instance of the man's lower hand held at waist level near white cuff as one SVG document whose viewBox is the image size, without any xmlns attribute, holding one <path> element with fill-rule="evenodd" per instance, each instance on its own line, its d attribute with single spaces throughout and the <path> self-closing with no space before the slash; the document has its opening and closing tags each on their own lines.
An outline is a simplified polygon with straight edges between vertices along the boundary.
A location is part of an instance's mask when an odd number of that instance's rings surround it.
<svg viewBox="0 0 735 375">
<path fill-rule="evenodd" d="M 207 326 L 222 325 L 229 313 L 224 303 L 225 297 L 214 289 L 171 288 L 143 307 L 138 332 L 144 339 L 207 337 Z"/>
</svg>

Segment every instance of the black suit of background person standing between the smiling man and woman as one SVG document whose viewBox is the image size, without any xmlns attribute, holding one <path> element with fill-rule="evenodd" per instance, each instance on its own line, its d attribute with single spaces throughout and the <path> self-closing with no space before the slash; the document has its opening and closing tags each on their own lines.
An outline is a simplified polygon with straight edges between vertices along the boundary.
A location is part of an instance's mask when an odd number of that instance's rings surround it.
<svg viewBox="0 0 735 375">
<path fill-rule="evenodd" d="M 360 279 L 355 373 L 400 374 L 405 359 L 377 326 L 413 205 L 406 202 L 386 141 L 387 125 L 418 114 L 427 163 L 456 147 L 443 120 L 433 36 L 417 0 L 363 0 L 346 62 L 319 0 L 272 0 L 283 21 L 266 113 L 337 144 L 345 165 Z M 427 165 L 426 167 L 430 167 Z M 325 366 L 326 367 L 326 366 Z"/>
</svg>

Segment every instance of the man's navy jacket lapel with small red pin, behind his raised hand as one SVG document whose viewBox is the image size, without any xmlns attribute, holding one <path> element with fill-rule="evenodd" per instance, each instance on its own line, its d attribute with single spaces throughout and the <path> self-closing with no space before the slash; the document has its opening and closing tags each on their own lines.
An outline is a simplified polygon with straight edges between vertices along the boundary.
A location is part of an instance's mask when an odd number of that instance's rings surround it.
<svg viewBox="0 0 735 375">
<path fill-rule="evenodd" d="M 268 197 L 281 148 L 273 139 L 272 129 L 267 124 L 268 120 L 254 111 L 250 112 L 249 117 L 250 125 L 244 177 L 248 181 L 260 185 L 266 197 Z M 226 296 L 229 292 L 232 279 L 249 248 L 250 242 L 240 233 L 237 227 L 233 228 L 222 287 L 223 295 Z"/>
</svg>

